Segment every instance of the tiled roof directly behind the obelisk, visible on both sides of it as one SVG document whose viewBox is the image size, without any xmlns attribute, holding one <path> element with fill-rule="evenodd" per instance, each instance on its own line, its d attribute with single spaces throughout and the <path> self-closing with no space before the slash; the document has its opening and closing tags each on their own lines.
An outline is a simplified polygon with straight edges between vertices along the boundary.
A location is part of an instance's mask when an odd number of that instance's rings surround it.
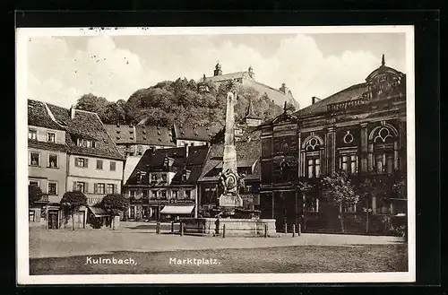
<svg viewBox="0 0 448 295">
<path fill-rule="evenodd" d="M 237 168 L 254 167 L 253 173 L 246 175 L 245 179 L 259 179 L 261 174 L 259 161 L 261 142 L 259 140 L 237 142 L 235 143 L 235 149 L 237 150 Z M 222 169 L 223 155 L 224 143 L 217 143 L 211 146 L 198 181 L 218 181 L 218 175 Z"/>
</svg>

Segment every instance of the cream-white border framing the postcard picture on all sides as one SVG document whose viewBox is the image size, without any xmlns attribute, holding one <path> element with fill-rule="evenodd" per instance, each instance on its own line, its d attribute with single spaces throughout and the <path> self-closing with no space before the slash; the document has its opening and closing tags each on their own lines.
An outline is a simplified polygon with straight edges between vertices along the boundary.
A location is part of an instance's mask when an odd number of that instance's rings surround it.
<svg viewBox="0 0 448 295">
<path fill-rule="evenodd" d="M 222 274 L 106 274 L 30 275 L 28 227 L 27 141 L 27 44 L 38 36 L 99 35 L 208 35 L 292 33 L 398 33 L 406 34 L 407 163 L 408 163 L 408 261 L 403 273 L 222 273 Z M 16 244 L 18 284 L 122 284 L 122 283 L 267 283 L 267 282 L 415 282 L 415 74 L 413 26 L 320 26 L 320 27 L 165 27 L 165 28 L 21 28 L 16 30 Z"/>
</svg>

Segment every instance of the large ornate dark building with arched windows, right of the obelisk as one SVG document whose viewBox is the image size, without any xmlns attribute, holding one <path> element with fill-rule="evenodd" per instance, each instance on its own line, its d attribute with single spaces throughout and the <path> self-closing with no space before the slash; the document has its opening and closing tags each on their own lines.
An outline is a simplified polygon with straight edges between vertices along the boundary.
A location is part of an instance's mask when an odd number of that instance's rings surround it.
<svg viewBox="0 0 448 295">
<path fill-rule="evenodd" d="M 405 216 L 406 197 L 395 187 L 406 177 L 406 75 L 384 63 L 332 96 L 262 128 L 260 205 L 263 218 L 275 218 L 308 231 L 387 233 Z M 355 187 L 376 191 L 357 204 L 337 204 L 321 179 L 344 172 Z M 308 193 L 300 187 L 308 184 Z M 381 189 L 380 189 L 381 188 Z M 406 195 L 406 194 L 404 194 Z M 342 217 L 341 217 L 342 216 Z"/>
</svg>

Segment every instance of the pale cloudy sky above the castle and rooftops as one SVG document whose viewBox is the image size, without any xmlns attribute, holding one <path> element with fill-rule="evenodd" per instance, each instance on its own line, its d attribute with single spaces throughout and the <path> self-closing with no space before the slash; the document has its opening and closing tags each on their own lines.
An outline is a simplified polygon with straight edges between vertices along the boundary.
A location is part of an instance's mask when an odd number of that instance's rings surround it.
<svg viewBox="0 0 448 295">
<path fill-rule="evenodd" d="M 27 47 L 27 96 L 69 108 L 82 94 L 110 101 L 177 78 L 254 69 L 273 88 L 286 83 L 305 108 L 385 63 L 406 74 L 405 33 L 44 36 Z"/>
</svg>

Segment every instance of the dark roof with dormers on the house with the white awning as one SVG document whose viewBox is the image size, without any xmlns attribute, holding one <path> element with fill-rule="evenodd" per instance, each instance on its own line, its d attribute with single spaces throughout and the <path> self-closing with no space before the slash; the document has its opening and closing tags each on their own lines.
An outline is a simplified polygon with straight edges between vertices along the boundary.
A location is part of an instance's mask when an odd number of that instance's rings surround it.
<svg viewBox="0 0 448 295">
<path fill-rule="evenodd" d="M 188 149 L 188 155 L 186 155 L 186 149 Z M 126 186 L 137 184 L 137 172 L 155 172 L 155 171 L 170 171 L 175 172 L 174 177 L 171 180 L 171 185 L 195 185 L 198 178 L 201 176 L 202 166 L 209 152 L 209 147 L 202 146 L 189 146 L 189 147 L 176 147 L 158 150 L 147 150 L 142 159 L 138 162 L 133 173 L 126 181 Z M 165 158 L 173 159 L 172 165 L 167 169 L 163 163 Z M 182 175 L 184 169 L 188 170 L 190 175 L 183 181 Z"/>
</svg>

